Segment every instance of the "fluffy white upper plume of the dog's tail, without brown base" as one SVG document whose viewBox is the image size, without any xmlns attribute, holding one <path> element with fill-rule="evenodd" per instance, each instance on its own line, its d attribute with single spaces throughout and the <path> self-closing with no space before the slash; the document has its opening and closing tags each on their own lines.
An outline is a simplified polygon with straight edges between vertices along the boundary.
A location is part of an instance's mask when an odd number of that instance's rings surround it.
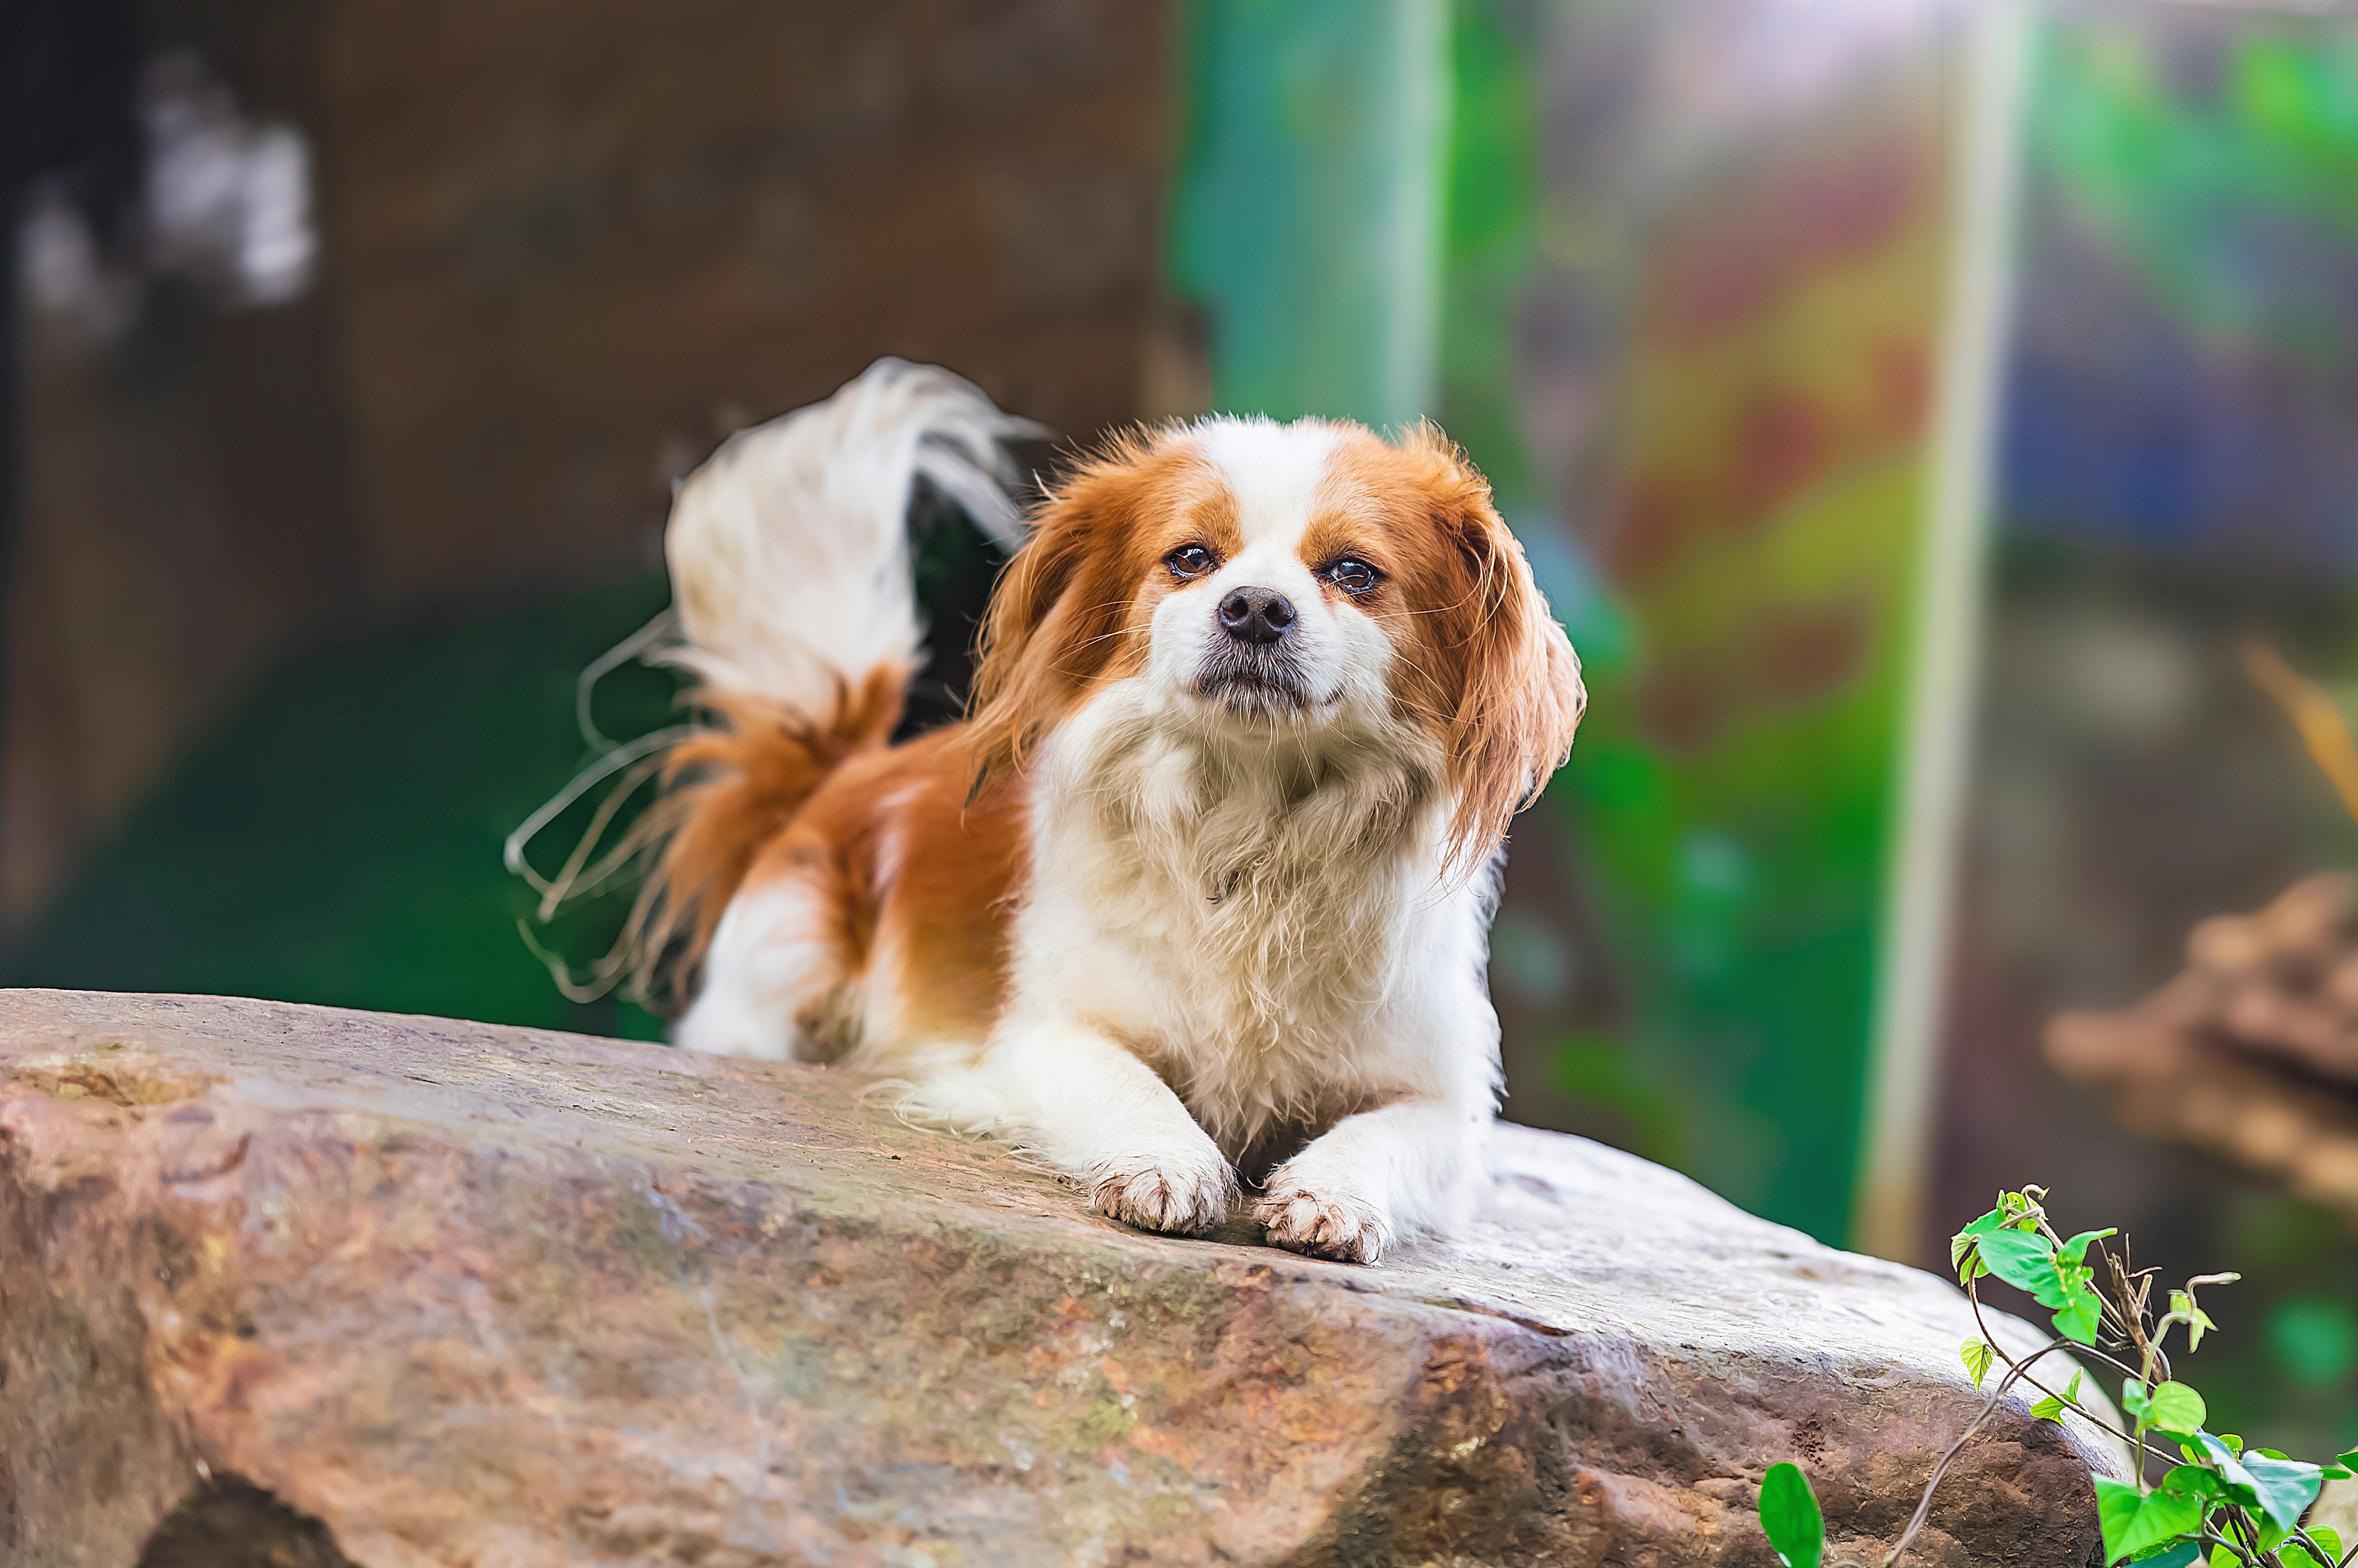
<svg viewBox="0 0 2358 1568">
<path fill-rule="evenodd" d="M 880 358 L 825 403 L 731 436 L 672 500 L 663 549 L 689 665 L 707 689 L 825 717 L 917 670 L 924 627 L 908 495 L 941 486 L 1002 549 L 1023 523 L 1007 436 L 1040 434 L 936 365 Z"/>
</svg>

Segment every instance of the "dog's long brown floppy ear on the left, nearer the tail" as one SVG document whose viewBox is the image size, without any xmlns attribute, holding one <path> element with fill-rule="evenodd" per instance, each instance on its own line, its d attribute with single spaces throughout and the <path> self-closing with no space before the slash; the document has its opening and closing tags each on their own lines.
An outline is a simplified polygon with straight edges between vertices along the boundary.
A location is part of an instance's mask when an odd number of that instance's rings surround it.
<svg viewBox="0 0 2358 1568">
<path fill-rule="evenodd" d="M 1049 490 L 1030 540 L 1000 573 L 974 667 L 974 790 L 1021 766 L 1120 653 L 1134 589 L 1122 542 L 1151 465 L 1146 434 L 1118 436 Z"/>
</svg>

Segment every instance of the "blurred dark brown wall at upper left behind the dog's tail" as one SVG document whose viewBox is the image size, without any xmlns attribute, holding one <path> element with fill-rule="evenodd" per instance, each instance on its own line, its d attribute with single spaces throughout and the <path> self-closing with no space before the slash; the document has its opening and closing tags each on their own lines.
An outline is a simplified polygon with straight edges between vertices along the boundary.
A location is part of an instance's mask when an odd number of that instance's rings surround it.
<svg viewBox="0 0 2358 1568">
<path fill-rule="evenodd" d="M 1139 413 L 1167 153 L 1137 0 L 172 0 L 314 149 L 323 269 L 28 323 L 0 917 L 283 651 L 656 559 L 670 479 L 877 354 Z"/>
</svg>

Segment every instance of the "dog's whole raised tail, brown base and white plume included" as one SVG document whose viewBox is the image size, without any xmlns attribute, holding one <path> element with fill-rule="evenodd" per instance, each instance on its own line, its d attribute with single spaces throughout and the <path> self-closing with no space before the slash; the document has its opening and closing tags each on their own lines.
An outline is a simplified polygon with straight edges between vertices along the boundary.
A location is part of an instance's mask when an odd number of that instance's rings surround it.
<svg viewBox="0 0 2358 1568">
<path fill-rule="evenodd" d="M 639 988 L 674 997 L 755 854 L 847 757 L 891 738 L 924 655 L 917 476 L 1002 549 L 1021 542 L 1002 441 L 1040 427 L 934 365 L 880 358 L 825 403 L 731 436 L 672 502 L 665 556 L 710 724 L 672 745 L 660 844 L 632 913 Z"/>
</svg>

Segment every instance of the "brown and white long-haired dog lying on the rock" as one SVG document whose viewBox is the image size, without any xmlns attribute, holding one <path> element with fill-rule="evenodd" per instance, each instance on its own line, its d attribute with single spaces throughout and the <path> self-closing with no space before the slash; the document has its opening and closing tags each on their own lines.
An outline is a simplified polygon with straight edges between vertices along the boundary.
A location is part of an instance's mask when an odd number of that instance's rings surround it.
<svg viewBox="0 0 2358 1568">
<path fill-rule="evenodd" d="M 1108 443 L 990 601 L 971 717 L 889 745 L 920 665 L 913 474 L 1021 538 L 1021 422 L 882 361 L 672 509 L 712 729 L 672 757 L 653 941 L 677 1040 L 844 1061 L 1106 1214 L 1375 1261 L 1448 1228 L 1495 1115 L 1507 818 L 1580 663 L 1481 474 L 1424 427 L 1198 420 Z"/>
</svg>

